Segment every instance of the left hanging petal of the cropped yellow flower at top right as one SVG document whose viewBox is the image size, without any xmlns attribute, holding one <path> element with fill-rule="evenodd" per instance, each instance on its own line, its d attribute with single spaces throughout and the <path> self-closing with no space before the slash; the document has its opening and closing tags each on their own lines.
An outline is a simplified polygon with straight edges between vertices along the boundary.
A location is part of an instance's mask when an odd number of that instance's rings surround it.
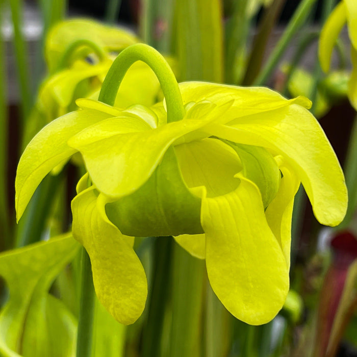
<svg viewBox="0 0 357 357">
<path fill-rule="evenodd" d="M 331 12 L 321 30 L 319 40 L 319 60 L 324 72 L 327 72 L 329 69 L 332 51 L 346 20 L 346 5 L 341 1 L 335 7 L 333 12 Z"/>
</svg>

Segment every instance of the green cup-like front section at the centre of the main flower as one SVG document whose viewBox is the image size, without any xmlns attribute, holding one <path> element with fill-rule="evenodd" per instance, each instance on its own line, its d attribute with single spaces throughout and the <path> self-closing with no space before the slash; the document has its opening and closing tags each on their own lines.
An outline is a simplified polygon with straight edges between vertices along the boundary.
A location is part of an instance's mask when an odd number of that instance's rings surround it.
<svg viewBox="0 0 357 357">
<path fill-rule="evenodd" d="M 106 212 L 127 236 L 199 234 L 200 201 L 184 183 L 171 147 L 147 182 L 131 195 L 107 203 Z"/>
</svg>

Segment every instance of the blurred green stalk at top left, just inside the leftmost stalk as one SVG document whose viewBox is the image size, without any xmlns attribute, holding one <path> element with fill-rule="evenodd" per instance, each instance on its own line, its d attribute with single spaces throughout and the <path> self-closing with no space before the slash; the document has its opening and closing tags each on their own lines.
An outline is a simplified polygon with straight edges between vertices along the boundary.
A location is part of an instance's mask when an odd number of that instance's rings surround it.
<svg viewBox="0 0 357 357">
<path fill-rule="evenodd" d="M 25 118 L 29 115 L 32 107 L 31 80 L 27 45 L 22 32 L 22 1 L 10 0 L 12 24 L 14 28 L 14 46 L 16 54 L 16 68 L 20 89 L 20 107 L 22 122 L 20 130 L 23 130 Z"/>
</svg>

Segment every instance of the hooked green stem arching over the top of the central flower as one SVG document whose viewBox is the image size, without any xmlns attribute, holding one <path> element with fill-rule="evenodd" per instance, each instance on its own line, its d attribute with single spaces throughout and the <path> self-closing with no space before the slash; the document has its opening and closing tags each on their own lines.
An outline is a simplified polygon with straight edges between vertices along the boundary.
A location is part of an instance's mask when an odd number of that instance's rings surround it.
<svg viewBox="0 0 357 357">
<path fill-rule="evenodd" d="M 172 69 L 156 49 L 137 43 L 125 48 L 110 67 L 99 93 L 99 101 L 114 105 L 121 81 L 126 71 L 136 61 L 145 62 L 157 75 L 164 92 L 167 106 L 167 121 L 181 120 L 185 115 L 179 85 Z"/>
</svg>

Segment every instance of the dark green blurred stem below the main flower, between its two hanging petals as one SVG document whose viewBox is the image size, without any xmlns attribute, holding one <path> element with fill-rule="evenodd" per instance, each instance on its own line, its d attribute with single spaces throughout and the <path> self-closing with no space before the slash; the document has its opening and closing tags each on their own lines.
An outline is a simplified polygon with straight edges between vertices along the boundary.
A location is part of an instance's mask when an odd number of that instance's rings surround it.
<svg viewBox="0 0 357 357">
<path fill-rule="evenodd" d="M 152 286 L 141 353 L 145 357 L 161 355 L 164 318 L 170 291 L 172 245 L 172 237 L 158 237 L 154 243 Z"/>
</svg>

